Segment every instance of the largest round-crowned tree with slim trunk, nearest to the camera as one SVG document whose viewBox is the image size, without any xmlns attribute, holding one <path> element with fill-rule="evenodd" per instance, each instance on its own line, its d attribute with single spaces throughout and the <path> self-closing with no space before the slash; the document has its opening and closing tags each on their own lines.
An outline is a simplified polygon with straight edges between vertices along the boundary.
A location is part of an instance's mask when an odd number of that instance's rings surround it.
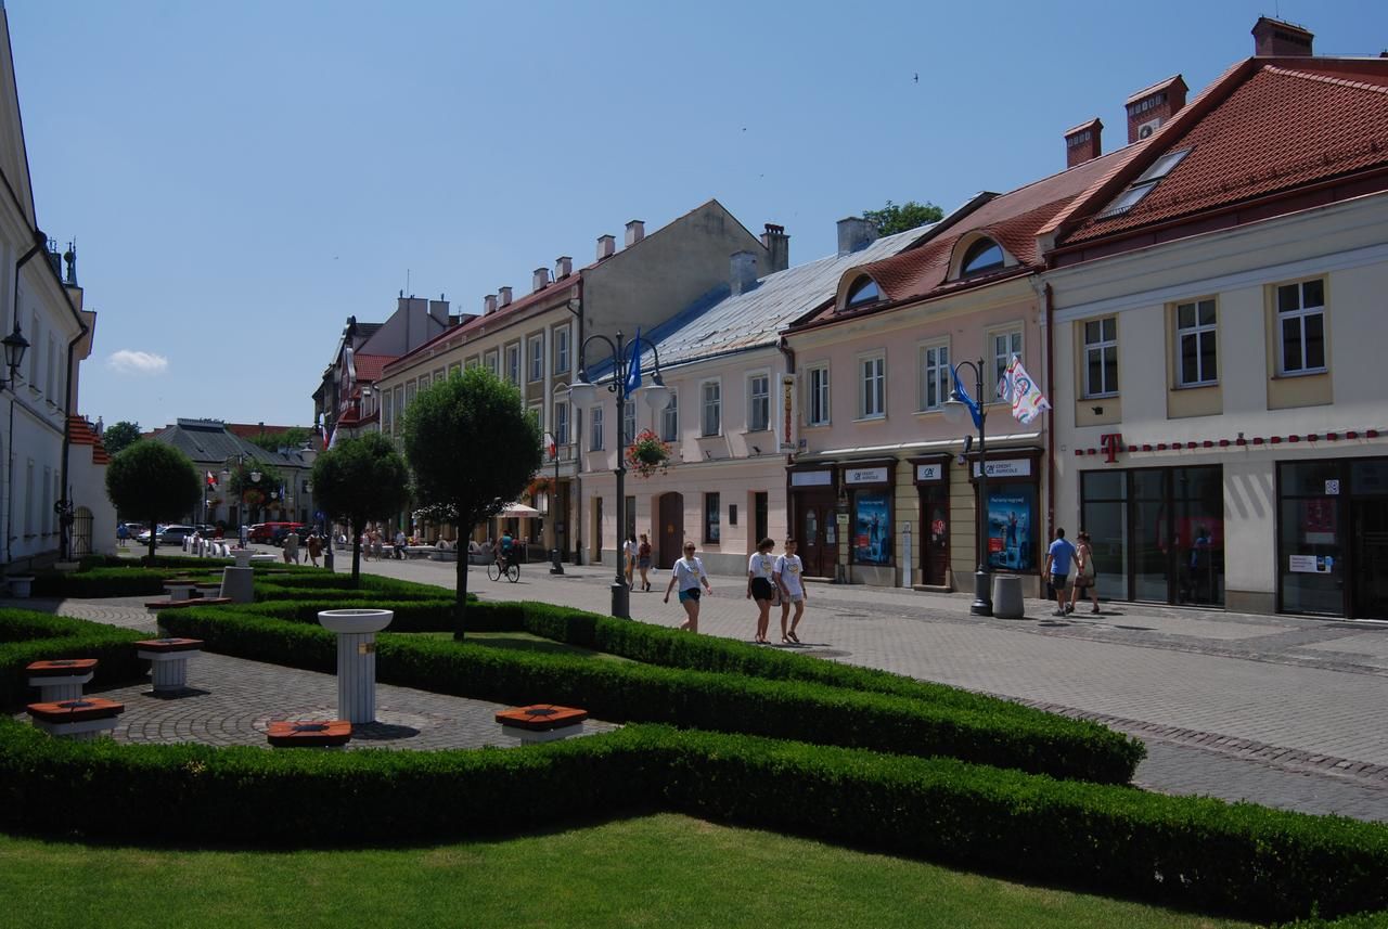
<svg viewBox="0 0 1388 929">
<path fill-rule="evenodd" d="M 455 514 L 459 532 L 514 501 L 540 467 L 540 426 L 520 391 L 471 367 L 421 391 L 404 417 L 415 499 Z M 458 550 L 454 638 L 466 628 L 468 557 Z"/>
</svg>

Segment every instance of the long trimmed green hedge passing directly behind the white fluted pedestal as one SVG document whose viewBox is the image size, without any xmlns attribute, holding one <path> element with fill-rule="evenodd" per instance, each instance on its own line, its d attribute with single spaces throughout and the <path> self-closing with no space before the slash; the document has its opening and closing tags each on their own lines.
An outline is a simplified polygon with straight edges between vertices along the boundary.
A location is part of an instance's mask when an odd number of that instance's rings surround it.
<svg viewBox="0 0 1388 929">
<path fill-rule="evenodd" d="M 316 605 L 307 603 L 253 609 L 285 618 L 294 610 L 316 617 Z M 428 618 L 429 607 L 416 616 Z M 318 671 L 336 663 L 333 634 L 307 620 L 289 624 L 247 610 L 189 607 L 165 610 L 160 625 L 239 657 Z M 376 657 L 376 677 L 386 684 L 498 703 L 569 703 L 604 720 L 947 754 L 1106 783 L 1126 783 L 1138 760 L 1127 736 L 1004 702 L 995 702 L 995 711 L 974 710 L 806 681 L 522 653 L 390 632 L 378 638 Z"/>
</svg>

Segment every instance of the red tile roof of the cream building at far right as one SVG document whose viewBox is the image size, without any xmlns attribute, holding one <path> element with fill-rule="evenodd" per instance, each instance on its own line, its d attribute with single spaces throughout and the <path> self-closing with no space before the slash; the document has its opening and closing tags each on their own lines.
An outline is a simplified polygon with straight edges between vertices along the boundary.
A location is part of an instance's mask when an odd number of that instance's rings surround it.
<svg viewBox="0 0 1388 929">
<path fill-rule="evenodd" d="M 1388 166 L 1388 60 L 1260 58 L 1214 86 L 1224 80 L 1221 100 L 1192 114 L 1192 125 L 1153 136 L 1158 144 L 1131 172 L 1169 151 L 1190 148 L 1190 155 L 1122 215 L 1097 219 L 1119 190 L 1092 191 L 1076 209 L 1085 219 L 1062 244 Z"/>
</svg>

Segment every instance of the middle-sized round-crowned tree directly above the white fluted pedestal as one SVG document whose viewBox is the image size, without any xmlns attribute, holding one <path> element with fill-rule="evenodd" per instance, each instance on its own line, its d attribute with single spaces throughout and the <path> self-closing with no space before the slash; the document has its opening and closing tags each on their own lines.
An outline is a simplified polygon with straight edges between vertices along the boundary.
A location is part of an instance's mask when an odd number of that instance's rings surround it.
<svg viewBox="0 0 1388 929">
<path fill-rule="evenodd" d="M 361 587 L 361 534 L 409 503 L 409 469 L 380 433 L 344 438 L 314 462 L 314 498 L 351 527 L 351 585 Z M 332 545 L 332 539 L 328 539 Z"/>
</svg>

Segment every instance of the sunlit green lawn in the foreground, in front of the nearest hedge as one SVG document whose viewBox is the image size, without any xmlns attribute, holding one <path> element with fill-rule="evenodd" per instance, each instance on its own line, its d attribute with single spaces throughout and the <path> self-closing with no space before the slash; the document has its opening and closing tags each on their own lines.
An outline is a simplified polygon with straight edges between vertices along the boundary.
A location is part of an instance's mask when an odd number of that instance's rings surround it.
<svg viewBox="0 0 1388 929">
<path fill-rule="evenodd" d="M 0 835 L 0 900 L 4 925 L 42 914 L 25 925 L 104 929 L 1248 925 L 675 814 L 366 851 L 165 851 Z"/>
</svg>

